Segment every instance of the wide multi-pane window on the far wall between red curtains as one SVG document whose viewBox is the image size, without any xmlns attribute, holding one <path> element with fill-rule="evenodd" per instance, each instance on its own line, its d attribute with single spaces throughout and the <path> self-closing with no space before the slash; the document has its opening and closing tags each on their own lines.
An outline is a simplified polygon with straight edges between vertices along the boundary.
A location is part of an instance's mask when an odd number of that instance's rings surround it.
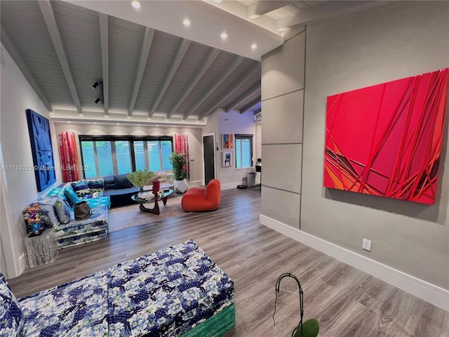
<svg viewBox="0 0 449 337">
<path fill-rule="evenodd" d="M 171 137 L 79 136 L 86 178 L 124 174 L 135 170 L 171 171 Z"/>
</svg>

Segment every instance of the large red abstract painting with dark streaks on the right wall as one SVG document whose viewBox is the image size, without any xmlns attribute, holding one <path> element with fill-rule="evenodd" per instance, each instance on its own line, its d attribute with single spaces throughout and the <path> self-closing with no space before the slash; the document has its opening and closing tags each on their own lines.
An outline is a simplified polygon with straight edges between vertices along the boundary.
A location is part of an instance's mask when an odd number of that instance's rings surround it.
<svg viewBox="0 0 449 337">
<path fill-rule="evenodd" d="M 324 187 L 434 204 L 448 74 L 328 96 Z"/>
</svg>

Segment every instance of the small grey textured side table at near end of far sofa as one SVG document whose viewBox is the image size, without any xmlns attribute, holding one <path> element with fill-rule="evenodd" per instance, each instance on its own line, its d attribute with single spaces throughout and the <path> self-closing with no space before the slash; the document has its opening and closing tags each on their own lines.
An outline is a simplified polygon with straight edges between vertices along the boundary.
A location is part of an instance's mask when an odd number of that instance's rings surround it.
<svg viewBox="0 0 449 337">
<path fill-rule="evenodd" d="M 55 260 L 58 255 L 55 229 L 47 228 L 37 237 L 25 237 L 25 251 L 30 268 Z"/>
</svg>

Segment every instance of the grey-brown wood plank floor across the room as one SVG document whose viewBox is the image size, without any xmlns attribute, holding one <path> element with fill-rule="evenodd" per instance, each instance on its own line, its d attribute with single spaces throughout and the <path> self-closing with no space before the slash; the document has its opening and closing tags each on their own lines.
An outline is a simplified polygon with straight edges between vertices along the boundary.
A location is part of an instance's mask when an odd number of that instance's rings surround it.
<svg viewBox="0 0 449 337">
<path fill-rule="evenodd" d="M 300 279 L 304 319 L 319 319 L 321 337 L 449 336 L 449 312 L 260 225 L 259 214 L 260 190 L 227 190 L 217 211 L 113 232 L 62 250 L 53 263 L 8 282 L 22 297 L 194 239 L 235 284 L 236 326 L 225 337 L 291 336 L 299 322 L 293 280 L 283 279 L 275 326 L 272 320 L 274 286 L 283 272 Z"/>
</svg>

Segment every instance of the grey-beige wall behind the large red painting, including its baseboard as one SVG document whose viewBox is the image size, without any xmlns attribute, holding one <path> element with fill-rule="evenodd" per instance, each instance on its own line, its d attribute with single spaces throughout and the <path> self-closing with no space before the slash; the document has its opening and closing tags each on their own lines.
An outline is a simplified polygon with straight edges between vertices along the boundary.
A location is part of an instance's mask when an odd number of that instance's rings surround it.
<svg viewBox="0 0 449 337">
<path fill-rule="evenodd" d="M 300 184 L 301 211 L 297 213 L 297 201 L 293 202 L 288 192 L 264 187 L 262 223 L 277 226 L 291 237 L 347 263 L 351 261 L 351 265 L 446 310 L 449 310 L 448 116 L 437 197 L 431 206 L 323 188 L 323 151 L 326 97 L 449 67 L 448 18 L 447 1 L 397 1 L 308 25 L 304 44 L 292 39 L 262 58 L 263 182 L 279 185 L 275 171 L 270 174 L 266 167 L 268 140 L 264 139 L 281 142 L 285 131 L 281 128 L 267 131 L 267 114 L 270 112 L 275 121 L 277 112 L 265 107 L 269 103 L 267 98 L 287 92 L 285 86 L 293 90 L 292 74 L 302 67 L 302 54 L 306 51 L 302 178 L 292 176 L 292 185 Z M 298 42 L 294 47 L 293 41 Z M 272 60 L 278 60 L 278 65 Z M 278 76 L 279 86 L 268 81 L 272 74 Z M 296 121 L 302 117 L 302 104 L 297 101 L 295 109 L 283 99 L 278 111 L 285 110 L 280 108 L 281 104 L 288 107 L 281 118 L 301 128 Z M 278 210 L 264 208 L 267 195 L 270 199 L 279 198 Z M 361 249 L 362 238 L 372 240 L 371 252 Z"/>
</svg>

